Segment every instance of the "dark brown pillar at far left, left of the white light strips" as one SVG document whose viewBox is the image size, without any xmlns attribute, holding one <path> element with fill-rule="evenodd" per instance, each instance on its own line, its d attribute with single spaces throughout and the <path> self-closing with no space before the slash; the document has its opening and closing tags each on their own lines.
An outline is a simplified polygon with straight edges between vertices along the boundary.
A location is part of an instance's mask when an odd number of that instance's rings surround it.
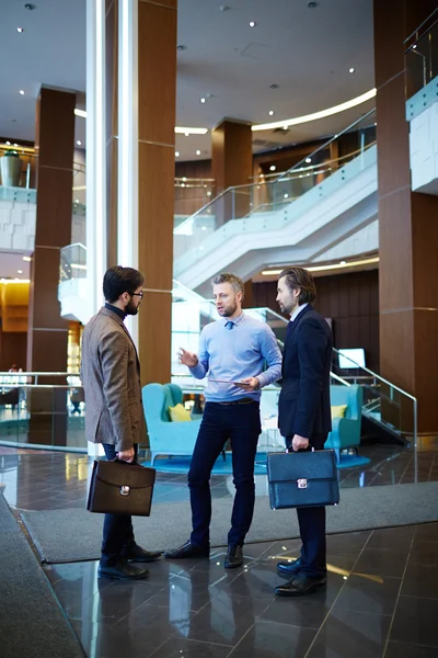
<svg viewBox="0 0 438 658">
<path fill-rule="evenodd" d="M 71 242 L 76 94 L 42 88 L 36 105 L 37 204 L 27 370 L 66 372 L 69 324 L 58 302 L 59 250 Z M 38 384 L 65 384 L 47 378 Z M 66 392 L 33 390 L 30 441 L 66 444 Z M 59 416 L 53 416 L 58 411 Z"/>
</svg>

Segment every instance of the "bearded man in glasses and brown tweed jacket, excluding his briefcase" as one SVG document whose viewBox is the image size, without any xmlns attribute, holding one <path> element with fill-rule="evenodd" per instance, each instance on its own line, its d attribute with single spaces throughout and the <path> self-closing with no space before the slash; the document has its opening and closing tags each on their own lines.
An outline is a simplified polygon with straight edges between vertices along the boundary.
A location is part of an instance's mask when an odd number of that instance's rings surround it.
<svg viewBox="0 0 438 658">
<path fill-rule="evenodd" d="M 141 401 L 140 364 L 124 325 L 137 315 L 145 277 L 132 268 L 110 268 L 103 280 L 105 306 L 83 330 L 81 378 L 85 393 L 85 435 L 102 443 L 108 461 L 134 462 L 146 423 Z M 131 518 L 105 514 L 100 577 L 139 579 L 148 569 L 130 563 L 153 561 L 160 553 L 145 551 L 134 538 Z"/>
</svg>

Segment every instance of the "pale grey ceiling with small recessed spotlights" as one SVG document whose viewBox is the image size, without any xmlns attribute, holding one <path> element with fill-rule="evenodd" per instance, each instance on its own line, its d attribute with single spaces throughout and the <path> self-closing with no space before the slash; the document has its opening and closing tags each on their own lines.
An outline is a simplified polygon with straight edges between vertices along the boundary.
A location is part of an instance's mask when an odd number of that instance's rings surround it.
<svg viewBox="0 0 438 658">
<path fill-rule="evenodd" d="M 34 3 L 37 9 L 27 11 L 25 0 L 0 1 L 0 135 L 12 139 L 34 139 L 42 84 L 85 91 L 87 0 Z M 212 128 L 223 117 L 280 121 L 337 105 L 374 86 L 372 0 L 319 0 L 315 9 L 308 0 L 233 0 L 227 11 L 220 7 L 215 0 L 178 2 L 177 42 L 186 49 L 177 53 L 177 125 Z M 332 135 L 371 106 L 372 101 L 289 132 L 254 133 L 254 150 Z M 81 118 L 77 139 L 84 144 Z M 196 149 L 199 159 L 210 156 L 209 133 L 176 136 L 180 160 L 196 159 Z"/>
</svg>

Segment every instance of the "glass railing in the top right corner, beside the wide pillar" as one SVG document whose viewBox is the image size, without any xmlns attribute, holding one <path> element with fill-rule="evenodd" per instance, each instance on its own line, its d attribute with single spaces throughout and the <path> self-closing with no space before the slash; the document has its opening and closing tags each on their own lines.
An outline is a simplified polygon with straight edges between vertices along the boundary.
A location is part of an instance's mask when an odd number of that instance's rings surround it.
<svg viewBox="0 0 438 658">
<path fill-rule="evenodd" d="M 405 87 L 408 100 L 438 76 L 438 9 L 407 37 L 405 46 Z"/>
</svg>

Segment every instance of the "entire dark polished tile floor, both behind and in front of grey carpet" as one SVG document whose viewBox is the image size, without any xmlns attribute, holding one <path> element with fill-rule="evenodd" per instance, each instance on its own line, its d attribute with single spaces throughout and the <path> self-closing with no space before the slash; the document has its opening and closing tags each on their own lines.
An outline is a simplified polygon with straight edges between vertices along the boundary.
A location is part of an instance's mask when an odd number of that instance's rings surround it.
<svg viewBox="0 0 438 658">
<path fill-rule="evenodd" d="M 341 487 L 438 480 L 435 449 L 416 457 L 399 446 L 360 452 L 371 463 L 342 470 Z M 91 464 L 78 454 L 0 447 L 0 486 L 12 508 L 68 513 L 84 506 Z M 230 477 L 212 477 L 214 496 L 231 499 Z M 186 476 L 159 472 L 154 499 L 186 500 Z M 326 587 L 276 599 L 275 564 L 298 554 L 298 540 L 249 544 L 244 566 L 226 570 L 223 549 L 215 549 L 210 559 L 161 559 L 138 582 L 100 580 L 96 561 L 44 569 L 90 658 L 438 655 L 438 523 L 330 535 Z"/>
</svg>

